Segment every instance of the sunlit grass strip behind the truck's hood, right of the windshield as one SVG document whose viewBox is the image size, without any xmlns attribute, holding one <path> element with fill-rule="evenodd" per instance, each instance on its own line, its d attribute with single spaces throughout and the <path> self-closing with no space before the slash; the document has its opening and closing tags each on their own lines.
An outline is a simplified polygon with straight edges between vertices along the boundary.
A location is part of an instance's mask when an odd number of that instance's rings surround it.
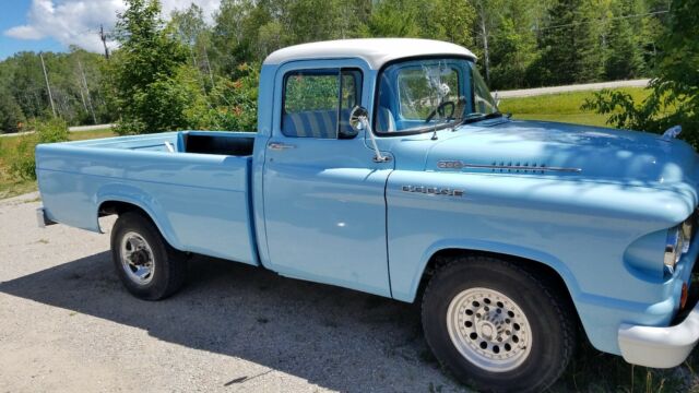
<svg viewBox="0 0 699 393">
<path fill-rule="evenodd" d="M 640 87 L 624 87 L 619 91 L 630 94 L 636 102 L 648 96 L 648 91 Z M 571 92 L 534 97 L 502 98 L 500 110 L 512 114 L 513 119 L 609 127 L 606 123 L 606 116 L 580 109 L 585 98 L 592 98 L 593 94 L 594 92 Z"/>
</svg>

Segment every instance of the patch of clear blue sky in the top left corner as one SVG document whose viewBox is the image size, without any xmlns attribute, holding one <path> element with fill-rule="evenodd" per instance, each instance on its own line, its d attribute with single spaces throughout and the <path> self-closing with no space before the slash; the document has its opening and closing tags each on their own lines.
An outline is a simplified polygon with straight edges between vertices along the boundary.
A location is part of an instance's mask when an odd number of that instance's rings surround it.
<svg viewBox="0 0 699 393">
<path fill-rule="evenodd" d="M 13 38 L 4 34 L 11 27 L 26 23 L 32 0 L 0 0 L 0 59 L 4 59 L 22 50 L 67 50 L 54 38 L 43 38 L 37 40 Z"/>
</svg>

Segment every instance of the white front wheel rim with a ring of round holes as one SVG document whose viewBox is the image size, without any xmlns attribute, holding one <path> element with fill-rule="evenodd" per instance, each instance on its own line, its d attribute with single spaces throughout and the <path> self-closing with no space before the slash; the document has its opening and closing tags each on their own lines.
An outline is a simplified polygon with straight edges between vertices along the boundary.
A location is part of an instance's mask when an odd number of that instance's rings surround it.
<svg viewBox="0 0 699 393">
<path fill-rule="evenodd" d="M 449 337 L 459 353 L 478 368 L 505 372 L 529 357 L 532 334 L 522 309 L 489 288 L 457 295 L 447 311 Z"/>
</svg>

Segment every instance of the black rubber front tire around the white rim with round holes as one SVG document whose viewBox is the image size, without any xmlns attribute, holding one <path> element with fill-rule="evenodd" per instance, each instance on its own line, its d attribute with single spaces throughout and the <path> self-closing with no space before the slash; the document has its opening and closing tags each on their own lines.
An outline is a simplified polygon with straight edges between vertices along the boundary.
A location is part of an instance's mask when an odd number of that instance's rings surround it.
<svg viewBox="0 0 699 393">
<path fill-rule="evenodd" d="M 479 391 L 540 392 L 545 390 L 568 366 L 574 352 L 577 334 L 577 318 L 568 301 L 565 300 L 566 296 L 557 294 L 546 283 L 547 281 L 543 277 L 540 278 L 503 260 L 488 257 L 450 258 L 437 270 L 423 296 L 422 318 L 427 344 L 443 367 L 461 382 Z M 495 299 L 490 300 L 488 297 L 481 298 L 483 303 L 472 301 L 476 299 L 477 294 L 493 294 L 493 291 L 505 295 L 509 299 L 500 298 L 505 303 L 498 301 L 497 305 Z M 460 299 L 463 301 L 460 302 Z M 493 302 L 493 307 L 484 308 L 486 299 L 488 305 Z M 454 300 L 454 307 L 450 309 L 452 300 Z M 507 315 L 508 300 L 511 300 L 510 305 L 514 305 L 516 311 L 519 307 L 519 311 L 524 315 L 524 319 L 519 321 L 525 321 L 529 329 L 518 324 L 518 329 L 521 329 L 520 333 L 526 335 L 526 341 L 518 338 L 514 343 L 519 344 L 512 344 L 514 347 L 508 344 L 506 355 L 500 340 L 505 338 L 508 343 L 512 343 L 513 336 L 518 334 L 512 327 L 517 324 L 514 317 L 512 320 L 507 319 L 507 323 L 505 317 L 500 317 Z M 464 306 L 457 307 L 457 305 Z M 494 313 L 495 311 L 497 313 Z M 513 312 L 509 315 L 514 314 Z M 495 322 L 490 323 L 490 321 Z M 464 325 L 463 329 L 461 323 Z M 452 332 L 457 332 L 453 333 L 457 338 L 451 338 L 448 325 L 452 326 Z M 461 350 L 454 344 L 455 342 L 461 343 L 459 344 Z M 528 345 L 524 345 L 524 342 Z M 483 355 L 477 355 L 477 348 L 470 345 L 485 345 L 485 347 L 481 346 L 484 350 Z M 510 350 L 513 352 L 510 353 Z M 462 353 L 466 353 L 475 360 L 470 360 Z M 484 356 L 497 357 L 510 354 L 514 354 L 512 358 L 519 360 L 496 359 L 495 361 L 513 361 L 498 371 L 494 371 L 494 367 L 499 366 L 488 364 L 490 358 L 482 360 Z"/>
</svg>

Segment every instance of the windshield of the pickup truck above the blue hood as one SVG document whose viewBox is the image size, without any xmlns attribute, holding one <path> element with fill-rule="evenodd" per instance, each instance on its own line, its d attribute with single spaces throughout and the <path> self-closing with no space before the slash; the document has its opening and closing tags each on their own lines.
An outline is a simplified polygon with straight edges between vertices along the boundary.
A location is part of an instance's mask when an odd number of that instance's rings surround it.
<svg viewBox="0 0 699 393">
<path fill-rule="evenodd" d="M 499 115 L 474 63 L 466 59 L 407 60 L 379 76 L 375 130 L 429 132 Z"/>
</svg>

